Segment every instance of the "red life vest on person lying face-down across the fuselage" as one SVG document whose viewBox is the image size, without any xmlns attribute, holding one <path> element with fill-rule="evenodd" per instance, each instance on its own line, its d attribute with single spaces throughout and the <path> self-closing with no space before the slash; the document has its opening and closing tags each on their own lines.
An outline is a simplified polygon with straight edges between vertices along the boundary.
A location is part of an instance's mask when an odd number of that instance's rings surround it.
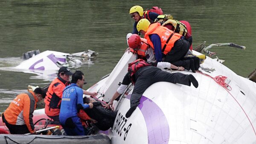
<svg viewBox="0 0 256 144">
<path fill-rule="evenodd" d="M 131 83 L 134 85 L 134 74 L 140 69 L 145 66 L 151 65 L 148 62 L 146 62 L 143 59 L 136 59 L 134 62 L 131 62 L 128 64 L 128 72 L 129 72 L 129 77 L 131 79 Z"/>
</svg>

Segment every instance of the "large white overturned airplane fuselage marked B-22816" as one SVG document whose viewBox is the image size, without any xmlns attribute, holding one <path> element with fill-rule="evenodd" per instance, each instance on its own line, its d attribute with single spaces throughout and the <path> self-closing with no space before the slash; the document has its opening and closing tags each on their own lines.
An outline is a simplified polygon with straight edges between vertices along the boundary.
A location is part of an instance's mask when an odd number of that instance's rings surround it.
<svg viewBox="0 0 256 144">
<path fill-rule="evenodd" d="M 116 92 L 118 83 L 122 82 L 127 64 L 133 60 L 134 55 L 125 53 L 110 76 L 89 90 L 108 93 L 104 97 L 108 102 Z M 209 57 L 201 67 L 214 68 L 215 71 L 181 71 L 193 74 L 199 83 L 198 88 L 169 82 L 154 83 L 145 90 L 136 110 L 126 118 L 133 90 L 133 86 L 129 85 L 120 100 L 113 104 L 118 113 L 112 129 L 105 132 L 111 137 L 112 144 L 255 142 L 256 83 L 238 76 Z M 228 86 L 215 82 L 215 76 L 226 76 Z"/>
</svg>

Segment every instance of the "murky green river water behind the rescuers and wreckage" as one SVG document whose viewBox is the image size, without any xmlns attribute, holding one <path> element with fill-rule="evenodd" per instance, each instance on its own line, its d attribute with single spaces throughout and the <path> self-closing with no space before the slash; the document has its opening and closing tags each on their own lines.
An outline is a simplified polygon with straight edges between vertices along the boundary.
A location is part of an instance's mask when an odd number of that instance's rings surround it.
<svg viewBox="0 0 256 144">
<path fill-rule="evenodd" d="M 93 50 L 92 65 L 82 65 L 89 88 L 110 73 L 128 47 L 132 6 L 159 6 L 192 26 L 193 45 L 233 42 L 246 50 L 214 47 L 224 65 L 241 76 L 256 68 L 256 1 L 254 0 L 0 0 L 0 112 L 27 85 L 49 81 L 14 71 L 26 51 L 76 53 Z M 76 70 L 73 68 L 72 70 Z"/>
</svg>

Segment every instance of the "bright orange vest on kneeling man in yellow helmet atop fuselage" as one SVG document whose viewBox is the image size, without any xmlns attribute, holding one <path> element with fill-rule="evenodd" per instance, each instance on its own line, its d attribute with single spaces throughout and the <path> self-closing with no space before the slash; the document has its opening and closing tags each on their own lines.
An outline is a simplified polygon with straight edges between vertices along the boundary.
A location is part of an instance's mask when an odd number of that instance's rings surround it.
<svg viewBox="0 0 256 144">
<path fill-rule="evenodd" d="M 150 34 L 157 34 L 160 37 L 163 54 L 169 53 L 172 50 L 174 43 L 182 37 L 182 35 L 177 34 L 164 26 L 161 26 L 160 23 L 153 23 L 149 25 L 149 28 L 145 33 L 145 39 L 147 39 L 148 44 L 152 48 L 154 48 L 154 45 L 149 38 Z"/>
</svg>

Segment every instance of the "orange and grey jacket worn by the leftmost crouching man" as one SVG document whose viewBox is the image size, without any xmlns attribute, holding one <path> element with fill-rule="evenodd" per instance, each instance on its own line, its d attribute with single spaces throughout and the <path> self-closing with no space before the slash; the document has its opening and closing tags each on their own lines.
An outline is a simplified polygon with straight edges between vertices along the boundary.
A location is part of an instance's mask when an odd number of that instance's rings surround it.
<svg viewBox="0 0 256 144">
<path fill-rule="evenodd" d="M 35 127 L 32 118 L 37 102 L 38 99 L 32 91 L 17 95 L 4 112 L 6 121 L 13 125 L 26 124 L 29 132 L 33 133 Z"/>
</svg>

